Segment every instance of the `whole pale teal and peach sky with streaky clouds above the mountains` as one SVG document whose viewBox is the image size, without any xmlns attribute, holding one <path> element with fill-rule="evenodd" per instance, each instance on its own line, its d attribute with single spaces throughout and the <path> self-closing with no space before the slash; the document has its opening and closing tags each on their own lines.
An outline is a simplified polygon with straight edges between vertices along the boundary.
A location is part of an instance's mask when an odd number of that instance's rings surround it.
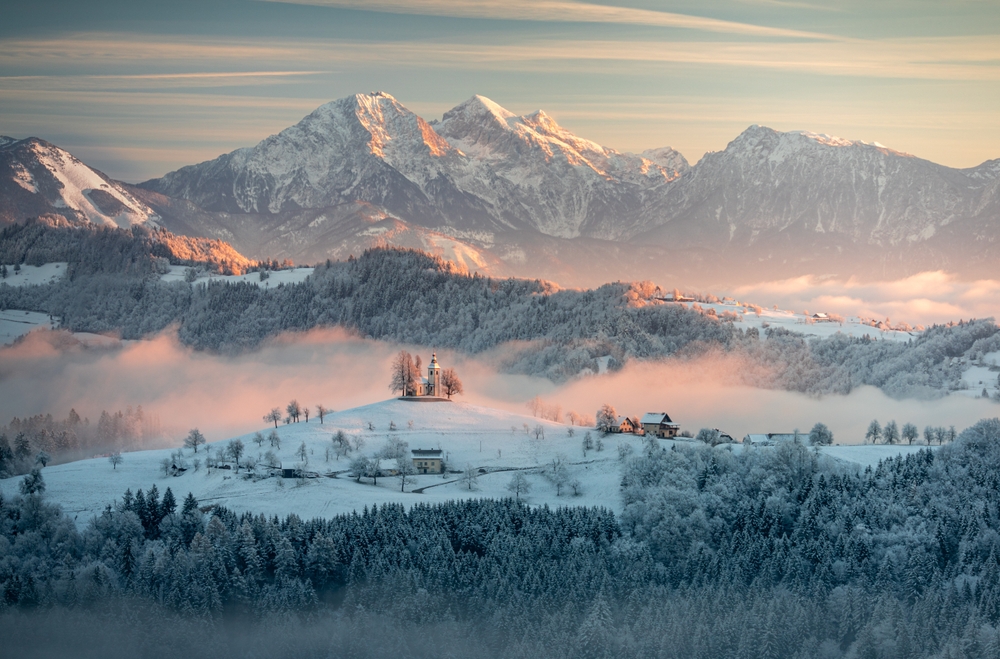
<svg viewBox="0 0 1000 659">
<path fill-rule="evenodd" d="M 0 134 L 140 181 L 386 91 L 473 94 L 696 162 L 751 124 L 1000 157 L 994 0 L 33 0 L 0 21 Z"/>
</svg>

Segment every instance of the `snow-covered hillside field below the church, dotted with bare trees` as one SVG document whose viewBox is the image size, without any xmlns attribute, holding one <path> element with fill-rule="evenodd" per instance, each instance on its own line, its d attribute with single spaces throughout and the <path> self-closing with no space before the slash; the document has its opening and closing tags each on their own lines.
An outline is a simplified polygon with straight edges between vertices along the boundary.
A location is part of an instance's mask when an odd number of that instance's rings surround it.
<svg viewBox="0 0 1000 659">
<path fill-rule="evenodd" d="M 389 430 L 391 423 L 395 424 L 395 431 Z M 525 432 L 526 426 L 528 432 Z M 535 439 L 537 426 L 541 426 L 544 436 Z M 261 433 L 266 437 L 272 429 L 262 428 Z M 99 514 L 126 489 L 145 490 L 153 484 L 161 492 L 170 487 L 178 497 L 191 492 L 203 505 L 219 504 L 236 511 L 266 515 L 296 513 L 308 518 L 360 510 L 366 505 L 383 502 L 412 505 L 469 497 L 506 497 L 510 496 L 506 486 L 516 470 L 523 471 L 531 485 L 531 491 L 523 497 L 530 504 L 606 506 L 620 511 L 618 445 L 629 444 L 640 451 L 642 438 L 609 435 L 602 440 L 603 451 L 589 451 L 584 457 L 582 438 L 586 430 L 573 428 L 574 436 L 570 436 L 570 429 L 563 424 L 466 403 L 416 403 L 392 399 L 331 414 L 322 425 L 316 418 L 311 418 L 309 423 L 279 425 L 281 446 L 275 452 L 282 466 L 300 464 L 296 453 L 304 443 L 309 456 L 306 469 L 321 474 L 318 478 L 254 480 L 247 478 L 245 469 L 239 473 L 208 470 L 204 467 L 206 447 L 197 454 L 184 450 L 189 468 L 180 476 L 165 476 L 162 468 L 163 460 L 169 459 L 175 449 L 126 453 L 117 469 L 112 468 L 106 457 L 97 457 L 50 466 L 43 473 L 46 496 L 61 504 L 79 524 Z M 343 430 L 352 439 L 361 438 L 364 442 L 361 451 L 365 454 L 378 450 L 389 437 L 398 437 L 407 442 L 410 449 L 441 449 L 450 469 L 460 470 L 469 465 L 485 473 L 479 475 L 472 490 L 461 482 L 460 474 L 455 473 L 415 476 L 405 492 L 400 491 L 399 478 L 392 476 L 380 478 L 377 485 L 368 479 L 358 483 L 346 473 L 349 458 L 338 460 L 333 454 L 332 437 L 338 430 Z M 591 433 L 596 441 L 598 433 Z M 258 448 L 252 437 L 250 434 L 240 438 L 247 455 L 257 456 L 270 448 L 266 441 Z M 227 442 L 216 441 L 208 446 L 217 455 Z M 328 448 L 331 449 L 329 458 Z M 739 450 L 741 447 L 734 448 Z M 823 451 L 867 466 L 918 448 L 833 446 Z M 194 469 L 196 458 L 202 463 L 198 470 Z M 569 464 L 571 479 L 580 481 L 578 496 L 567 489 L 558 496 L 555 485 L 541 473 L 556 458 Z M 385 468 L 392 465 L 392 461 L 383 462 Z M 0 480 L 0 492 L 4 496 L 15 494 L 19 482 L 20 478 Z"/>
</svg>

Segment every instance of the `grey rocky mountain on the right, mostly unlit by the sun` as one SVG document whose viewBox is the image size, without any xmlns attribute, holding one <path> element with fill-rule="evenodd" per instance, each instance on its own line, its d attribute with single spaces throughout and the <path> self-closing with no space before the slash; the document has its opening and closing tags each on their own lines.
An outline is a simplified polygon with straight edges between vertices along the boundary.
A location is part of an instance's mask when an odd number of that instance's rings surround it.
<svg viewBox="0 0 1000 659">
<path fill-rule="evenodd" d="M 780 236 L 925 243 L 989 212 L 982 202 L 997 170 L 998 161 L 958 170 L 878 143 L 751 126 L 655 199 L 640 236 L 716 249 Z"/>
</svg>

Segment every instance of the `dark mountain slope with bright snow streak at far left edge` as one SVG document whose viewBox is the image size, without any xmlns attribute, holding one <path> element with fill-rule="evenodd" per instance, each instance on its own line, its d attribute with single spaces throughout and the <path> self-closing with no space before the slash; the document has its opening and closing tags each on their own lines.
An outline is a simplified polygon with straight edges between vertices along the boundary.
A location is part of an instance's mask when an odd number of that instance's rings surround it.
<svg viewBox="0 0 1000 659">
<path fill-rule="evenodd" d="M 118 227 L 158 219 L 122 184 L 54 144 L 0 136 L 0 224 L 41 215 Z"/>
</svg>

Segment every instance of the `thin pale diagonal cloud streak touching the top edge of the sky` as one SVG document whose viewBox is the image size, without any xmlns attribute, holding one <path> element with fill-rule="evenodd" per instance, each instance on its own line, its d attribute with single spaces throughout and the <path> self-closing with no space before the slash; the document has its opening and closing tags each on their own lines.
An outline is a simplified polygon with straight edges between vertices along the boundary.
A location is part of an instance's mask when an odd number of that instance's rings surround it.
<svg viewBox="0 0 1000 659">
<path fill-rule="evenodd" d="M 336 7 L 392 14 L 517 21 L 617 23 L 742 34 L 759 37 L 839 40 L 841 37 L 785 28 L 724 21 L 674 12 L 616 7 L 573 0 L 268 0 L 284 4 Z"/>
</svg>

